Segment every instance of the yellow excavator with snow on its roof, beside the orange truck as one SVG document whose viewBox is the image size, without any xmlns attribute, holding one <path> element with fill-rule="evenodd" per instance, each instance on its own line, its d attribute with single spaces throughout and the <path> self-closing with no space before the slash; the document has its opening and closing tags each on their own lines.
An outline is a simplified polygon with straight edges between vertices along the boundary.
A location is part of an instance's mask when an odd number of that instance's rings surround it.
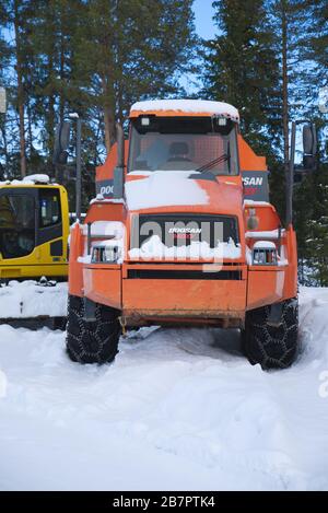
<svg viewBox="0 0 328 513">
<path fill-rule="evenodd" d="M 0 279 L 68 275 L 69 206 L 47 175 L 0 183 Z"/>
</svg>

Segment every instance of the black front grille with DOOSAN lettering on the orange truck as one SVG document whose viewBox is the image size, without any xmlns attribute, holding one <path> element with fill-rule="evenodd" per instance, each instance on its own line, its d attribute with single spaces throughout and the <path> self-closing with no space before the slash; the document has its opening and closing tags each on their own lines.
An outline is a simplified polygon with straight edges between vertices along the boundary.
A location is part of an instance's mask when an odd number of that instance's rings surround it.
<svg viewBox="0 0 328 513">
<path fill-rule="evenodd" d="M 188 246 L 191 242 L 207 242 L 211 248 L 218 241 L 239 243 L 237 220 L 227 215 L 156 214 L 133 215 L 131 249 L 140 248 L 152 235 L 159 235 L 167 247 Z"/>
</svg>

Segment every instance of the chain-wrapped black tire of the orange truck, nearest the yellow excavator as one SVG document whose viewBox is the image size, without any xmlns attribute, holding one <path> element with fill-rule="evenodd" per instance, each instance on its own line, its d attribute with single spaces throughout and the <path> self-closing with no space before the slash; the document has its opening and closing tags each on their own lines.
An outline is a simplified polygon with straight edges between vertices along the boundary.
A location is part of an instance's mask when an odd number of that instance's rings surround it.
<svg viewBox="0 0 328 513">
<path fill-rule="evenodd" d="M 83 299 L 69 296 L 66 348 L 73 362 L 107 363 L 115 359 L 121 333 L 118 311 L 96 303 L 95 318 L 85 320 Z"/>
</svg>

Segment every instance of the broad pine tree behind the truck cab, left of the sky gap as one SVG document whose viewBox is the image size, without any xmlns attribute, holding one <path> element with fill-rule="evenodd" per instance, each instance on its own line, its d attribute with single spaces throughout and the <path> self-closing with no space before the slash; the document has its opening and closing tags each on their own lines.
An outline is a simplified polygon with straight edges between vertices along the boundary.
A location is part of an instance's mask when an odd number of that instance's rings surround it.
<svg viewBox="0 0 328 513">
<path fill-rule="evenodd" d="M 103 112 L 107 152 L 134 101 L 178 89 L 194 44 L 192 0 L 91 0 L 75 53 L 85 103 Z"/>
</svg>

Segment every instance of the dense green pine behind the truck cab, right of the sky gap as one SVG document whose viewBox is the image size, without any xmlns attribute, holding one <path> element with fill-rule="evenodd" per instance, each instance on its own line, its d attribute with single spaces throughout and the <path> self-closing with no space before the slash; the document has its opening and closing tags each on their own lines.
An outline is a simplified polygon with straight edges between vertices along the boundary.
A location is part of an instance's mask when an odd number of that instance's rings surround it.
<svg viewBox="0 0 328 513">
<path fill-rule="evenodd" d="M 278 137 L 279 68 L 262 0 L 213 2 L 219 35 L 206 44 L 204 97 L 239 108 L 242 130 L 256 148 Z"/>
</svg>

